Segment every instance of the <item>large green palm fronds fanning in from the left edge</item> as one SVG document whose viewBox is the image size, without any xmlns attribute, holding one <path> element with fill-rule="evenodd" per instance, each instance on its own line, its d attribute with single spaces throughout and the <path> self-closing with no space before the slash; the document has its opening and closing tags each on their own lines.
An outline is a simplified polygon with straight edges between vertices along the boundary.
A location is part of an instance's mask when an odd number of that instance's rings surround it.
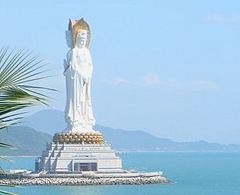
<svg viewBox="0 0 240 195">
<path fill-rule="evenodd" d="M 27 50 L 0 50 L 0 129 L 17 123 L 22 110 L 36 104 L 47 105 L 46 90 L 33 83 L 49 77 L 46 63 Z"/>
</svg>

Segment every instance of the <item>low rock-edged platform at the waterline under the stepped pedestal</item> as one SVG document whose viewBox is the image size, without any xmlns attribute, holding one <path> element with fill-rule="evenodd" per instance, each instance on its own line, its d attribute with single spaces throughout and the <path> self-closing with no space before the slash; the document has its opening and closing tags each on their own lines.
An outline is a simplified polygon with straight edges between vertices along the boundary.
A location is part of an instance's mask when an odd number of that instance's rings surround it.
<svg viewBox="0 0 240 195">
<path fill-rule="evenodd" d="M 160 172 L 20 173 L 0 175 L 0 185 L 145 185 L 170 183 Z"/>
</svg>

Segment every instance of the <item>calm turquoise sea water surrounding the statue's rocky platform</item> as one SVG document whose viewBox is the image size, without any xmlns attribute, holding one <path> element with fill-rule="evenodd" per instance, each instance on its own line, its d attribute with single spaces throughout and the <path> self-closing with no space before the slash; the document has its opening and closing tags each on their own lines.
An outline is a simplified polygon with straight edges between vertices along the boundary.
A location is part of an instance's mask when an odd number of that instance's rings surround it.
<svg viewBox="0 0 240 195">
<path fill-rule="evenodd" d="M 172 183 L 151 185 L 19 186 L 7 188 L 23 195 L 240 195 L 240 153 L 127 152 L 123 167 L 163 171 Z M 11 157 L 2 167 L 34 168 L 34 157 Z M 1 188 L 6 190 L 6 188 Z"/>
</svg>

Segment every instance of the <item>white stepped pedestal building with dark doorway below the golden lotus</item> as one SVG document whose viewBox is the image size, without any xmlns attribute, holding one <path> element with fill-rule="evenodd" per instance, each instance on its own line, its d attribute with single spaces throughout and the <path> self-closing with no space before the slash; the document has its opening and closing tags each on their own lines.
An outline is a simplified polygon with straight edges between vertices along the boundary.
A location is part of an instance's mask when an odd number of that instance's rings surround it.
<svg viewBox="0 0 240 195">
<path fill-rule="evenodd" d="M 50 143 L 35 164 L 35 171 L 79 173 L 121 172 L 122 161 L 108 144 Z"/>
</svg>

